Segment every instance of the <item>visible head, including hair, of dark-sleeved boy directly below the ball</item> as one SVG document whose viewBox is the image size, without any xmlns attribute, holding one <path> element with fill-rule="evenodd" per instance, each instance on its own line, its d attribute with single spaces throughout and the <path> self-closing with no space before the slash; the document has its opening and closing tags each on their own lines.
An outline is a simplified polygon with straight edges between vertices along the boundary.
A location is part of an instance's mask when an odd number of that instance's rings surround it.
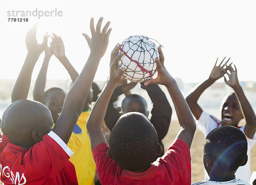
<svg viewBox="0 0 256 185">
<path fill-rule="evenodd" d="M 137 94 L 130 94 L 122 101 L 123 113 L 140 112 L 148 116 L 148 106 L 146 100 Z"/>
</svg>

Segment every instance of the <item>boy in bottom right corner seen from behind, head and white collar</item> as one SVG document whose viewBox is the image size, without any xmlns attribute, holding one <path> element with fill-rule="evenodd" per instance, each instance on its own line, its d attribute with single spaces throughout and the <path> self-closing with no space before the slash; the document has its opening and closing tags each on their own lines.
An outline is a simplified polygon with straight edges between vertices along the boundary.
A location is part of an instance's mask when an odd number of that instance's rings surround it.
<svg viewBox="0 0 256 185">
<path fill-rule="evenodd" d="M 246 164 L 247 139 L 233 126 L 221 126 L 209 132 L 204 142 L 204 168 L 210 179 L 192 185 L 233 184 L 250 185 L 235 176 L 239 166 Z"/>
</svg>

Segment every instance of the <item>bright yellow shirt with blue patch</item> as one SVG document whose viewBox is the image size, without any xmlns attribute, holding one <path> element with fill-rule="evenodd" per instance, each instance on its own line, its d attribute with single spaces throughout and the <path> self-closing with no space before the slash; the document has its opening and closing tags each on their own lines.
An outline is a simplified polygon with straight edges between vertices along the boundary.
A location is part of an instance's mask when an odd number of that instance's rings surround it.
<svg viewBox="0 0 256 185">
<path fill-rule="evenodd" d="M 79 185 L 94 185 L 96 165 L 90 148 L 90 140 L 86 129 L 86 122 L 90 108 L 79 116 L 67 146 L 74 152 L 70 162 L 76 168 Z"/>
</svg>

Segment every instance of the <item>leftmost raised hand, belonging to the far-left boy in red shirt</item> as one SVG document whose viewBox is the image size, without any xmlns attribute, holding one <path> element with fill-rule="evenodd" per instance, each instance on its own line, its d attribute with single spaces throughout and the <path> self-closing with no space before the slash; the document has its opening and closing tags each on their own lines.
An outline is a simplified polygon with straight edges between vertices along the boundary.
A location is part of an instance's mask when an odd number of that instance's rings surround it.
<svg viewBox="0 0 256 185">
<path fill-rule="evenodd" d="M 35 23 L 34 26 L 32 26 L 32 28 L 29 29 L 25 39 L 28 54 L 33 55 L 35 57 L 39 57 L 39 55 L 44 51 L 44 48 L 47 45 L 47 35 L 44 35 L 43 43 L 38 44 L 36 40 L 37 26 L 38 23 Z"/>
</svg>

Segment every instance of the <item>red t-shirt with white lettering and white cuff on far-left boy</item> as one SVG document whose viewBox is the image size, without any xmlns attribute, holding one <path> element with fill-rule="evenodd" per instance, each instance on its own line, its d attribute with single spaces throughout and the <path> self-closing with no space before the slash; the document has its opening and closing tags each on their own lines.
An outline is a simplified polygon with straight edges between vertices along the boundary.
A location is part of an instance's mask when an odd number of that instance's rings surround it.
<svg viewBox="0 0 256 185">
<path fill-rule="evenodd" d="M 0 173 L 4 184 L 78 184 L 73 152 L 50 131 L 29 150 L 14 145 L 3 135 L 0 142 Z"/>
</svg>

